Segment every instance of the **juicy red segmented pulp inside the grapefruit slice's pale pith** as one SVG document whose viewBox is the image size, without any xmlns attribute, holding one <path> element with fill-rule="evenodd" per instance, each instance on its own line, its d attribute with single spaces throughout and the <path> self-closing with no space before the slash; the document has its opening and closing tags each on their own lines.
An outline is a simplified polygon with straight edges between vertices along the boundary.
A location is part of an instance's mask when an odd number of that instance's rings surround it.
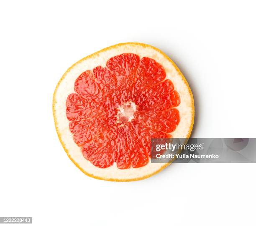
<svg viewBox="0 0 256 226">
<path fill-rule="evenodd" d="M 145 166 L 151 138 L 171 137 L 180 121 L 179 94 L 165 78 L 155 60 L 131 53 L 84 71 L 66 102 L 69 130 L 84 158 L 100 168 Z M 120 110 L 129 104 L 136 106 L 131 118 Z"/>
</svg>

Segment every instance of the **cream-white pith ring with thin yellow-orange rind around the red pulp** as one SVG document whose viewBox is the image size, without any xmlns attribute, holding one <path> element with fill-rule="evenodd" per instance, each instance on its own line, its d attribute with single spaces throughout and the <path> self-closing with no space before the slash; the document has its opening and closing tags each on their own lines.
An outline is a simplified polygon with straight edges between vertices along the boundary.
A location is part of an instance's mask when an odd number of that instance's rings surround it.
<svg viewBox="0 0 256 226">
<path fill-rule="evenodd" d="M 55 93 L 56 102 L 54 103 L 54 110 L 56 128 L 59 132 L 61 141 L 67 149 L 68 155 L 73 161 L 85 172 L 106 180 L 132 180 L 135 178 L 142 178 L 159 171 L 160 168 L 166 165 L 166 163 L 150 163 L 149 160 L 148 164 L 141 168 L 118 169 L 116 163 L 108 168 L 98 168 L 83 157 L 81 148 L 74 143 L 73 135 L 69 131 L 69 121 L 66 116 L 66 100 L 69 94 L 74 93 L 74 82 L 77 77 L 85 70 L 92 70 L 99 65 L 105 67 L 108 59 L 122 53 L 134 53 L 140 58 L 153 58 L 164 67 L 166 79 L 172 81 L 174 88 L 179 93 L 181 99 L 181 103 L 177 107 L 180 113 L 180 122 L 176 130 L 171 133 L 173 137 L 187 138 L 189 136 L 194 115 L 192 96 L 189 93 L 187 84 L 179 74 L 179 71 L 176 70 L 175 66 L 163 54 L 150 46 L 127 43 L 102 51 L 97 55 L 93 55 L 91 58 L 82 60 L 74 65 L 73 68 L 68 70 Z"/>
</svg>

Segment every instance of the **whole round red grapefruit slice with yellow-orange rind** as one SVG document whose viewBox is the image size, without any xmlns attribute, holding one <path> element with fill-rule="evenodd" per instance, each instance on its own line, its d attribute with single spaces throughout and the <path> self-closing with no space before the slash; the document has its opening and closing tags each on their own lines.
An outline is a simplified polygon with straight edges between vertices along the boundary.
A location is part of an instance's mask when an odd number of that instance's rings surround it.
<svg viewBox="0 0 256 226">
<path fill-rule="evenodd" d="M 136 181 L 169 163 L 151 163 L 151 138 L 189 138 L 194 100 L 159 49 L 113 45 L 72 65 L 56 86 L 54 123 L 72 162 L 86 175 Z"/>
</svg>

